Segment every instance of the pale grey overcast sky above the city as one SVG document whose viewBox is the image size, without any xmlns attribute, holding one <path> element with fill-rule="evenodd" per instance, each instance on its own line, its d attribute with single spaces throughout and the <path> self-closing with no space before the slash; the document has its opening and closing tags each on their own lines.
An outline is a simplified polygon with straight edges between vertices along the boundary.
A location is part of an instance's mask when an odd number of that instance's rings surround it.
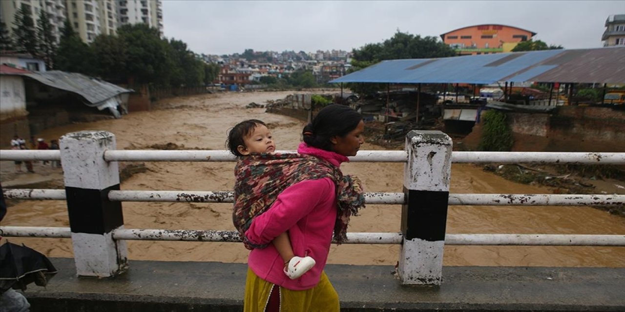
<svg viewBox="0 0 625 312">
<path fill-rule="evenodd" d="M 625 14 L 625 1 L 163 1 L 166 37 L 219 55 L 351 51 L 397 29 L 440 38 L 477 24 L 527 29 L 565 49 L 602 47 L 611 14 Z"/>
</svg>

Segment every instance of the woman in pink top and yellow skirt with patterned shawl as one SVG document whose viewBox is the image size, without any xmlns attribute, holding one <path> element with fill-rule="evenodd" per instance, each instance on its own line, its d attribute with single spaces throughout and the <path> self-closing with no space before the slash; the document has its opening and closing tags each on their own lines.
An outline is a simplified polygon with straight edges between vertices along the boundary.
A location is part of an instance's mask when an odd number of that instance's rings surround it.
<svg viewBox="0 0 625 312">
<path fill-rule="evenodd" d="M 244 312 L 339 312 L 339 297 L 324 267 L 332 238 L 345 241 L 349 217 L 364 207 L 361 182 L 339 169 L 364 143 L 362 132 L 356 110 L 332 104 L 304 127 L 298 154 L 263 154 L 237 163 L 237 181 L 248 181 L 236 185 L 235 193 L 239 187 L 239 193 L 252 194 L 239 200 L 272 202 L 244 233 L 244 241 L 254 246 L 247 258 Z M 263 178 L 240 178 L 258 176 L 259 170 Z M 244 187 L 247 192 L 241 192 Z M 271 245 L 284 232 L 296 255 L 316 260 L 296 280 L 284 275 L 282 257 Z"/>
</svg>

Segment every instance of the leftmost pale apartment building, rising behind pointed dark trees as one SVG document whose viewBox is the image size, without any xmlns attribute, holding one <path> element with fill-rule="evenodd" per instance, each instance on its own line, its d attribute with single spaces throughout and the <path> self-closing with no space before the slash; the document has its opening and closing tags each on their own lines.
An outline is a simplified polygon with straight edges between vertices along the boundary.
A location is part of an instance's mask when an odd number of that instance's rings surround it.
<svg viewBox="0 0 625 312">
<path fill-rule="evenodd" d="M 23 7 L 24 11 L 29 12 L 35 25 L 39 21 L 41 11 L 46 11 L 49 15 L 50 24 L 56 42 L 61 39 L 61 29 L 65 22 L 66 16 L 66 0 L 2 0 L 0 1 L 0 19 L 9 30 L 13 32 L 15 12 L 19 7 Z"/>
</svg>

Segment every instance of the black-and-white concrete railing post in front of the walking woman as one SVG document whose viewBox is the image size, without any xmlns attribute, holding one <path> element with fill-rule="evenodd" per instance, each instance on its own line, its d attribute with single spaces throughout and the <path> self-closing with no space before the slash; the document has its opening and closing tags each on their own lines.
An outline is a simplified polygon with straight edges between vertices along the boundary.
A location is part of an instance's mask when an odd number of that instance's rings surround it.
<svg viewBox="0 0 625 312">
<path fill-rule="evenodd" d="M 406 135 L 404 193 L 397 273 L 404 285 L 440 285 L 452 141 L 440 131 Z"/>
</svg>

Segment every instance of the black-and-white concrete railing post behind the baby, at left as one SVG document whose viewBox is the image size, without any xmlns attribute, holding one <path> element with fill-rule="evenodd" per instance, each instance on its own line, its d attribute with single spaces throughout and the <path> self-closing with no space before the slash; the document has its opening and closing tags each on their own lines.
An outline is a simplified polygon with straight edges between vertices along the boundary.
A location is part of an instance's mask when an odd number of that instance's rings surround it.
<svg viewBox="0 0 625 312">
<path fill-rule="evenodd" d="M 72 132 L 59 145 L 76 272 L 99 277 L 121 273 L 128 266 L 126 242 L 113 240 L 112 231 L 123 228 L 124 218 L 121 202 L 108 199 L 109 191 L 119 190 L 118 163 L 104 160 L 104 151 L 115 149 L 115 135 Z"/>
</svg>

